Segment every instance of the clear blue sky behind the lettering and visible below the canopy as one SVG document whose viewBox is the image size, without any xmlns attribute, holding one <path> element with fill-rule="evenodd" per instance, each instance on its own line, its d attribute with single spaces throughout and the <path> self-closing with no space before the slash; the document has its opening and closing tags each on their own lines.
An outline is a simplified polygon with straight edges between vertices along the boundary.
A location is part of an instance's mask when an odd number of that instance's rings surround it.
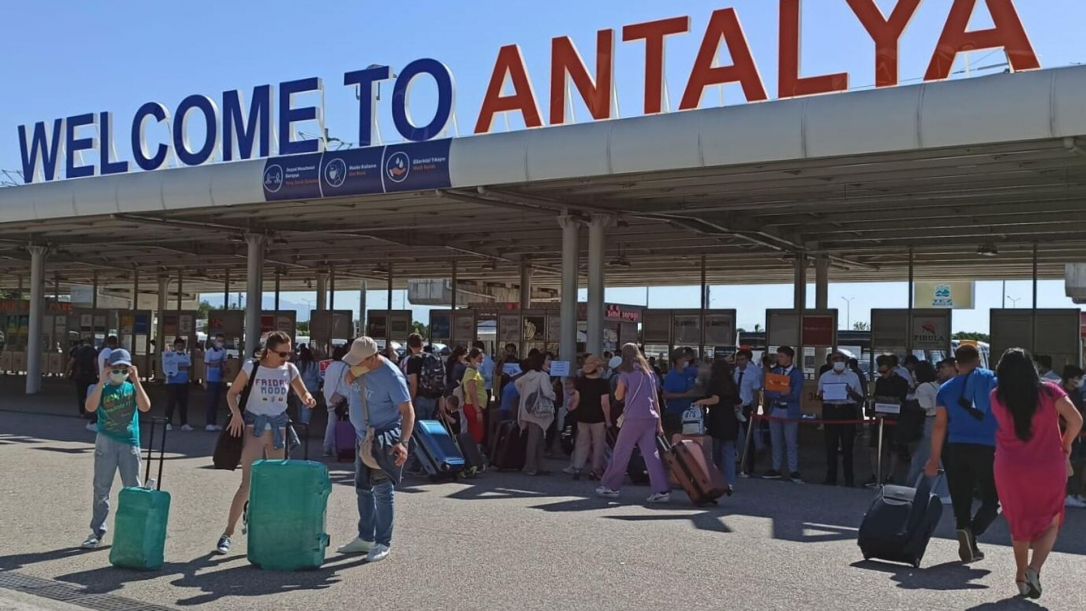
<svg viewBox="0 0 1086 611">
<path fill-rule="evenodd" d="M 877 4 L 888 13 L 896 1 L 880 0 Z M 1086 61 L 1086 47 L 1079 43 L 1082 24 L 1086 23 L 1086 2 L 1018 0 L 1015 4 L 1044 66 Z M 921 5 L 901 41 L 902 82 L 919 78 L 925 71 L 950 5 L 951 0 L 925 0 Z M 130 117 L 144 102 L 160 101 L 173 109 L 191 93 L 217 98 L 228 89 L 249 92 L 257 85 L 310 76 L 325 80 L 326 125 L 331 135 L 355 141 L 357 105 L 353 91 L 341 85 L 343 73 L 375 63 L 389 64 L 399 71 L 419 58 L 434 58 L 452 68 L 456 78 L 459 133 L 467 136 L 476 122 L 501 46 L 520 44 L 546 114 L 552 37 L 570 36 L 591 65 L 597 29 L 619 29 L 627 24 L 690 15 L 691 33 L 668 40 L 667 79 L 672 105 L 677 105 L 709 15 L 715 9 L 727 7 L 737 9 L 766 87 L 775 97 L 778 2 L 556 0 L 546 3 L 546 10 L 540 7 L 496 0 L 476 0 L 455 8 L 444 2 L 406 2 L 396 4 L 394 10 L 371 2 L 326 0 L 310 0 L 304 4 L 278 0 L 193 0 L 186 2 L 184 10 L 176 3 L 156 2 L 14 3 L 5 7 L 7 27 L 0 37 L 0 56 L 8 59 L 4 66 L 8 92 L 0 97 L 0 168 L 21 166 L 18 125 L 112 111 L 115 138 L 124 158 L 128 156 Z M 980 2 L 972 25 L 989 24 L 984 3 Z M 619 102 L 622 116 L 633 116 L 642 106 L 644 46 L 623 43 L 620 35 L 618 39 L 615 69 Z M 870 86 L 874 81 L 872 47 L 845 0 L 804 2 L 806 75 L 848 72 L 853 88 Z M 971 58 L 974 68 L 1002 61 L 1000 52 L 984 51 Z M 963 65 L 959 61 L 958 68 Z M 416 87 L 412 102 L 416 116 L 429 116 L 431 93 L 426 84 Z M 743 101 L 735 87 L 725 88 L 723 96 L 727 104 Z M 378 115 L 386 139 L 393 140 L 389 98 L 382 97 Z M 719 97 L 716 92 L 707 94 L 703 104 L 719 104 Z M 586 116 L 583 105 L 578 105 L 576 113 L 582 119 Z M 505 128 L 502 120 L 495 122 L 495 126 Z M 519 128 L 519 119 L 510 117 L 510 126 Z M 765 307 L 791 304 L 791 291 L 788 287 L 719 288 L 714 291 L 712 305 L 738 306 L 740 323 L 753 326 L 761 321 Z M 1028 304 L 1028 283 L 1008 285 L 1008 293 L 1022 298 L 1020 306 Z M 977 293 L 980 308 L 961 311 L 955 320 L 956 329 L 986 330 L 987 308 L 1000 305 L 1001 290 L 998 283 L 980 283 Z M 1040 305 L 1069 305 L 1062 294 L 1061 282 L 1044 282 Z M 831 304 L 844 307 L 841 296 L 856 297 L 853 319 L 863 320 L 873 306 L 904 306 L 906 288 L 905 284 L 832 287 Z M 302 303 L 312 296 L 285 298 Z M 608 298 L 640 304 L 644 303 L 644 290 L 609 291 Z M 382 306 L 383 301 L 383 292 L 375 291 L 369 298 L 371 307 Z M 357 307 L 357 292 L 344 292 L 337 302 L 343 307 Z M 657 290 L 652 297 L 652 305 L 659 307 L 691 307 L 696 303 L 696 288 Z"/>
</svg>

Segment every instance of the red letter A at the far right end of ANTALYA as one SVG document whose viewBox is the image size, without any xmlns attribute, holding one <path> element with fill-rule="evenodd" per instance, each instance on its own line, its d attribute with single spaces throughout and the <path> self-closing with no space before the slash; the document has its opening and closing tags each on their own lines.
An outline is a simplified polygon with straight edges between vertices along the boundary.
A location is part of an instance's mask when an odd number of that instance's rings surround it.
<svg viewBox="0 0 1086 611">
<path fill-rule="evenodd" d="M 924 80 L 943 80 L 950 76 L 950 69 L 963 51 L 980 51 L 982 49 L 1002 48 L 1013 71 L 1037 69 L 1040 62 L 1030 43 L 1030 35 L 1014 10 L 1012 0 L 985 0 L 995 27 L 965 31 L 969 20 L 973 16 L 976 0 L 955 0 L 950 8 L 943 35 L 935 46 L 935 54 L 927 66 Z"/>
</svg>

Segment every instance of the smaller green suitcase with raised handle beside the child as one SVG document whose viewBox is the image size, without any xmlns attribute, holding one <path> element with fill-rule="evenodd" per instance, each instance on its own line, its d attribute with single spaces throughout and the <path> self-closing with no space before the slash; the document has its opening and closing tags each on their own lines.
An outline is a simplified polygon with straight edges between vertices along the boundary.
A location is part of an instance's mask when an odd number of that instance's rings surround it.
<svg viewBox="0 0 1086 611">
<path fill-rule="evenodd" d="M 159 453 L 157 483 L 151 478 L 151 451 L 154 446 L 154 424 L 162 422 L 162 449 Z M 166 525 L 169 522 L 169 493 L 162 492 L 162 467 L 166 456 L 166 421 L 152 420 L 147 444 L 147 474 L 143 487 L 121 491 L 117 513 L 113 522 L 113 546 L 110 564 L 122 569 L 156 571 L 162 568 L 166 547 Z M 155 488 L 151 489 L 154 485 Z"/>
</svg>

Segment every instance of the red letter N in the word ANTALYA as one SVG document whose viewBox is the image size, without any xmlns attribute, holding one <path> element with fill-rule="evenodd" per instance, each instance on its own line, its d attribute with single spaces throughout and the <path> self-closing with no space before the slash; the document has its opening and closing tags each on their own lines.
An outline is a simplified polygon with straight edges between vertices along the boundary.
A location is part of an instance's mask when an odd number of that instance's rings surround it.
<svg viewBox="0 0 1086 611">
<path fill-rule="evenodd" d="M 568 36 L 551 40 L 551 125 L 566 123 L 566 90 L 572 80 L 594 119 L 610 118 L 615 73 L 615 30 L 596 33 L 596 78 L 592 79 Z"/>
</svg>

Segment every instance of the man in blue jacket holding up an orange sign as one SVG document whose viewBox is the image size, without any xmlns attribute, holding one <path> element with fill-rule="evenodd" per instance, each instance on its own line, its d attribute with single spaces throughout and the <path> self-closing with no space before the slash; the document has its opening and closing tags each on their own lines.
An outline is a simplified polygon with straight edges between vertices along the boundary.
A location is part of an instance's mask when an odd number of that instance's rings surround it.
<svg viewBox="0 0 1086 611">
<path fill-rule="evenodd" d="M 770 409 L 769 436 L 773 446 L 773 468 L 766 472 L 767 480 L 780 480 L 784 454 L 788 456 L 788 475 L 801 484 L 799 476 L 799 419 L 804 412 L 804 371 L 796 367 L 796 351 L 792 346 L 776 348 L 776 367 L 766 374 L 766 406 Z"/>
</svg>

